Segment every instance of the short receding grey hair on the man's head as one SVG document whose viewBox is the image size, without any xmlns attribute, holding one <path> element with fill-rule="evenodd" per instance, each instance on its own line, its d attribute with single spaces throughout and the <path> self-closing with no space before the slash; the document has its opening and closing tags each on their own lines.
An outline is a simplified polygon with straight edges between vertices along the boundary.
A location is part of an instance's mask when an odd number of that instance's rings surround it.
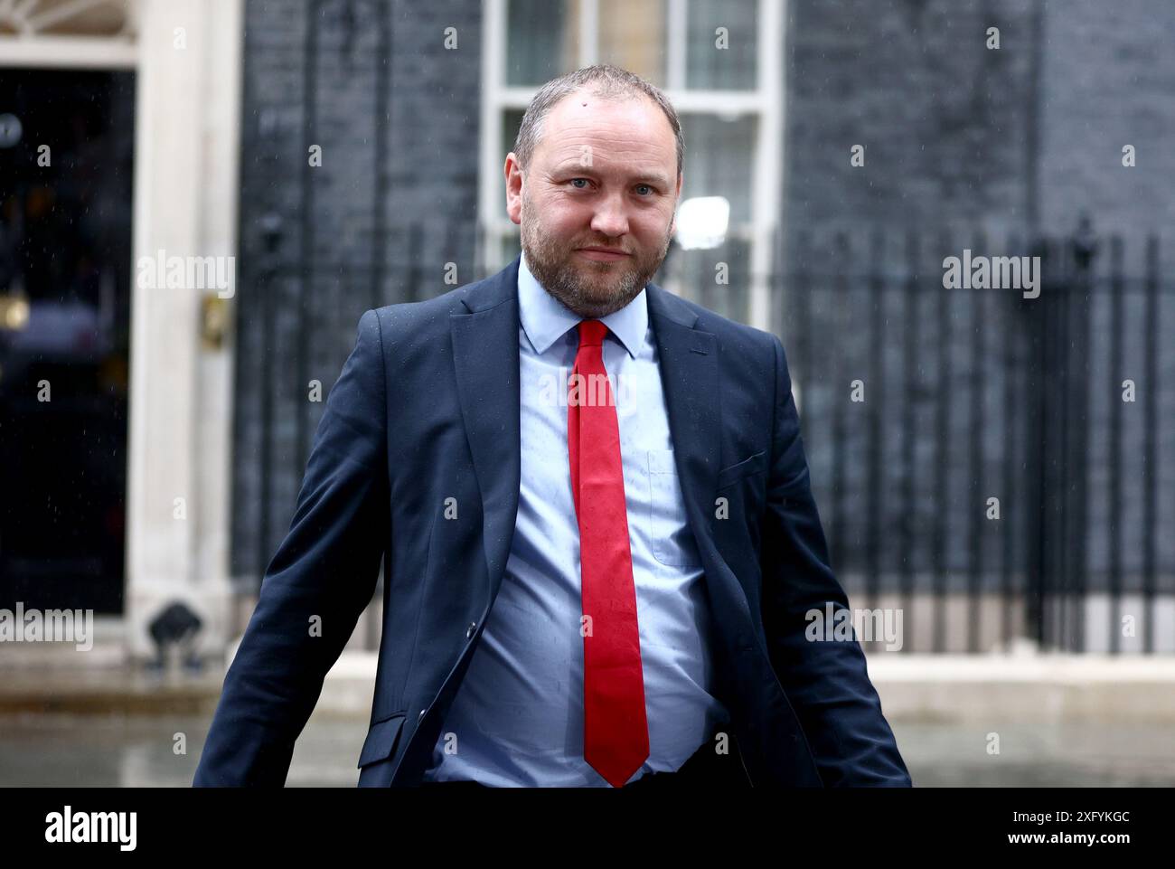
<svg viewBox="0 0 1175 869">
<path fill-rule="evenodd" d="M 677 174 L 682 174 L 682 167 L 685 162 L 685 138 L 682 135 L 682 122 L 677 118 L 673 103 L 659 88 L 650 85 L 636 73 L 630 73 L 627 69 L 611 63 L 585 66 L 573 73 L 551 79 L 538 89 L 526 107 L 526 113 L 522 116 L 522 126 L 518 127 L 518 136 L 515 139 L 513 152 L 521 168 L 525 169 L 530 165 L 535 147 L 543 133 L 543 119 L 556 103 L 582 89 L 589 89 L 604 100 L 644 95 L 656 102 L 665 113 L 669 126 L 677 138 Z"/>
</svg>

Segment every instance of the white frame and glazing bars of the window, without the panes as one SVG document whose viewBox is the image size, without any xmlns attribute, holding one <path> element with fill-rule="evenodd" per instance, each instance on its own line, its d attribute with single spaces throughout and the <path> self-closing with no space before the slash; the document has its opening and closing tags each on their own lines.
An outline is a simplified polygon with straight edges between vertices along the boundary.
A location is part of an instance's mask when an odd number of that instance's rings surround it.
<svg viewBox="0 0 1175 869">
<path fill-rule="evenodd" d="M 666 0 L 666 87 L 665 95 L 679 114 L 753 114 L 756 141 L 751 169 L 751 294 L 750 325 L 768 329 L 771 323 L 771 269 L 774 228 L 783 220 L 781 178 L 784 166 L 784 88 L 783 56 L 786 27 L 786 0 L 758 0 L 758 42 L 756 88 L 753 91 L 687 89 L 686 83 L 686 9 L 689 0 Z M 508 0 L 485 0 L 482 51 L 482 135 L 481 172 L 478 173 L 478 219 L 485 249 L 490 252 L 515 232 L 505 213 L 498 179 L 505 154 L 498 153 L 503 115 L 510 109 L 524 111 L 537 87 L 511 87 L 505 83 Z M 579 0 L 580 67 L 598 61 L 599 0 Z M 689 145 L 689 143 L 686 143 Z M 745 236 L 744 236 L 745 238 Z M 669 283 L 666 289 L 679 292 Z"/>
</svg>

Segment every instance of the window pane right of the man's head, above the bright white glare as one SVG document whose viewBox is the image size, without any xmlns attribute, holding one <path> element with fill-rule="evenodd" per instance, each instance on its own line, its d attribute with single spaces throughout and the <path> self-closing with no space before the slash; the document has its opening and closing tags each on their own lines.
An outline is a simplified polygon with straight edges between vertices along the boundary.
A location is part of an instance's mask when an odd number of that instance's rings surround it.
<svg viewBox="0 0 1175 869">
<path fill-rule="evenodd" d="M 725 196 L 731 222 L 751 220 L 751 171 L 756 118 L 724 120 L 717 115 L 684 114 L 685 178 L 682 198 Z"/>
</svg>

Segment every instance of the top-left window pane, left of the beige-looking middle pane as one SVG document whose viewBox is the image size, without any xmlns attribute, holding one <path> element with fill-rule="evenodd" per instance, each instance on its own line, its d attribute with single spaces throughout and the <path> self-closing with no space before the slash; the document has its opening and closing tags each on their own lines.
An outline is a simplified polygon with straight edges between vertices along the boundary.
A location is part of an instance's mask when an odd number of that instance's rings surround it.
<svg viewBox="0 0 1175 869">
<path fill-rule="evenodd" d="M 579 0 L 510 0 L 506 85 L 543 85 L 578 60 Z"/>
</svg>

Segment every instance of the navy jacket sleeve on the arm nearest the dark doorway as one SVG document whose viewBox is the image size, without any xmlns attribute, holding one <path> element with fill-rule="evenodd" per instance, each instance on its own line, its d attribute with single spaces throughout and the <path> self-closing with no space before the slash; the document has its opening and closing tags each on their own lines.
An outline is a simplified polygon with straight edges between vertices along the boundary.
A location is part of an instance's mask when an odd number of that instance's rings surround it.
<svg viewBox="0 0 1175 869">
<path fill-rule="evenodd" d="M 371 600 L 390 523 L 383 366 L 380 320 L 368 310 L 226 675 L 196 787 L 286 783 L 294 741 Z"/>
</svg>

